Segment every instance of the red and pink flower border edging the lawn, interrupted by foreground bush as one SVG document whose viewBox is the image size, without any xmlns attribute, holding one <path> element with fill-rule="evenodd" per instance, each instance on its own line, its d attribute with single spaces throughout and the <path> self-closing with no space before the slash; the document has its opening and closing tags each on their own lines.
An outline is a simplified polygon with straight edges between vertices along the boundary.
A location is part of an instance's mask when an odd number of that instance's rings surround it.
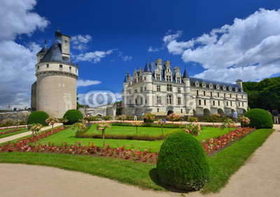
<svg viewBox="0 0 280 197">
<path fill-rule="evenodd" d="M 127 146 L 118 148 L 111 148 L 110 144 L 106 147 L 97 147 L 94 143 L 89 143 L 88 145 L 82 145 L 81 142 L 76 142 L 75 144 L 69 144 L 67 142 L 62 143 L 62 145 L 57 146 L 55 143 L 50 144 L 31 144 L 37 140 L 43 139 L 50 135 L 54 135 L 59 131 L 66 129 L 66 127 L 55 128 L 54 130 L 47 130 L 43 133 L 39 133 L 37 136 L 25 138 L 15 142 L 14 144 L 7 144 L 1 146 L 0 152 L 10 152 L 10 151 L 32 151 L 32 152 L 43 152 L 43 153 L 59 153 L 59 154 L 81 154 L 81 155 L 92 155 L 92 156 L 106 156 L 111 158 L 126 159 L 135 162 L 153 163 L 155 164 L 158 158 L 158 152 L 152 153 L 150 150 L 140 151 L 134 148 L 131 144 L 131 148 L 127 149 Z M 229 146 L 237 140 L 245 137 L 249 133 L 252 133 L 255 128 L 238 128 L 237 130 L 232 130 L 230 133 L 214 137 L 211 139 L 203 140 L 201 143 L 209 156 L 213 154 L 214 151 L 221 151 L 224 147 Z"/>
</svg>

